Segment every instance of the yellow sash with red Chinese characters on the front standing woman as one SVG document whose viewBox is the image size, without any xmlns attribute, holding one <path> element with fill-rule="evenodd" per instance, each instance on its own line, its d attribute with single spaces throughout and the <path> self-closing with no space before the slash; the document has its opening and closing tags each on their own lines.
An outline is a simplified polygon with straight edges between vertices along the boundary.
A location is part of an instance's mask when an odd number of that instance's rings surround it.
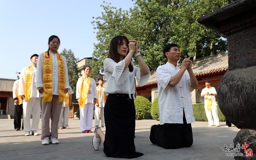
<svg viewBox="0 0 256 160">
<path fill-rule="evenodd" d="M 43 60 L 43 102 L 52 101 L 52 53 L 49 51 L 49 57 L 47 52 L 44 52 Z M 58 59 L 58 84 L 59 84 L 59 102 L 67 101 L 67 95 L 65 94 L 65 68 L 62 56 L 57 52 Z"/>
</svg>

